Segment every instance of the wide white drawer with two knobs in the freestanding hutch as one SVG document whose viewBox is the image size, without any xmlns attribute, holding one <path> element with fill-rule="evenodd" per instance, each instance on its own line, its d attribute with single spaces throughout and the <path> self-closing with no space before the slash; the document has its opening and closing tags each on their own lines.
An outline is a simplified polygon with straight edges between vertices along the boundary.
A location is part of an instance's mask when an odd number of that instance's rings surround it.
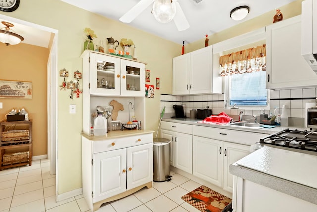
<svg viewBox="0 0 317 212">
<path fill-rule="evenodd" d="M 152 133 L 93 142 L 93 153 L 152 143 Z"/>
</svg>

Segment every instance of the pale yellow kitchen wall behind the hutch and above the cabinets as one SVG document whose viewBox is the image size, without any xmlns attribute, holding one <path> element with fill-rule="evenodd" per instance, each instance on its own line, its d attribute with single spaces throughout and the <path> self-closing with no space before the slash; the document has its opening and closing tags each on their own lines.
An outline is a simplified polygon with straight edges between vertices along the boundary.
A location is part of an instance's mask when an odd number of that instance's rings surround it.
<svg viewBox="0 0 317 212">
<path fill-rule="evenodd" d="M 296 2 L 300 2 L 298 0 Z M 106 8 L 105 8 L 106 9 Z M 298 4 L 290 8 L 283 7 L 284 17 L 291 10 L 300 11 Z M 274 11 L 275 13 L 275 11 Z M 210 36 L 210 44 L 216 43 L 237 34 L 243 34 L 263 25 L 270 24 L 266 19 L 272 19 L 274 13 L 261 16 L 257 21 L 247 21 L 243 27 L 233 27 L 229 30 Z M 113 21 L 97 14 L 73 7 L 60 0 L 27 0 L 21 1 L 20 7 L 10 13 L 0 14 L 57 29 L 58 34 L 58 70 L 65 68 L 70 73 L 82 72 L 82 60 L 85 27 L 95 31 L 100 39 L 112 36 L 120 40 L 129 38 L 137 46 L 138 59 L 148 63 L 146 69 L 151 70 L 151 82 L 160 78 L 160 90 L 155 90 L 154 99 L 146 99 L 146 128 L 155 130 L 159 125 L 160 93 L 172 93 L 172 58 L 180 54 L 181 45 L 163 40 L 157 36 L 134 29 L 119 21 Z M 300 12 L 299 12 L 300 14 Z M 181 40 L 182 38 L 180 38 Z M 95 44 L 97 44 L 95 43 Z M 186 52 L 202 48 L 203 39 L 186 46 Z M 59 77 L 58 84 L 62 83 Z M 81 188 L 81 137 L 82 132 L 82 98 L 69 99 L 68 91 L 57 90 L 58 94 L 58 190 L 59 194 Z M 76 104 L 76 114 L 69 114 L 69 104 Z"/>
</svg>

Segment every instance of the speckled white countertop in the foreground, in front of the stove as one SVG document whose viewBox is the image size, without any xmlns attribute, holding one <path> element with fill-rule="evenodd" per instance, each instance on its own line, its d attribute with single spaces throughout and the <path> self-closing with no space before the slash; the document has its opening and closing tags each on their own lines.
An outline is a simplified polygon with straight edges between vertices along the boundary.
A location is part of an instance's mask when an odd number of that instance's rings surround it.
<svg viewBox="0 0 317 212">
<path fill-rule="evenodd" d="M 264 146 L 231 164 L 231 174 L 317 205 L 317 154 Z"/>
</svg>

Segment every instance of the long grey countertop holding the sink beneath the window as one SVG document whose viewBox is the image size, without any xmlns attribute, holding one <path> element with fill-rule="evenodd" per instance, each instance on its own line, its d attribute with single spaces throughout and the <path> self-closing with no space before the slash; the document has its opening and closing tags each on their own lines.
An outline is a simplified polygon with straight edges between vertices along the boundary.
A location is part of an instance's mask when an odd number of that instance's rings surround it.
<svg viewBox="0 0 317 212">
<path fill-rule="evenodd" d="M 288 127 L 276 126 L 274 128 L 250 128 L 250 127 L 235 126 L 230 124 L 225 124 L 225 125 L 206 124 L 206 123 L 197 123 L 198 121 L 202 121 L 202 120 L 190 119 L 190 118 L 163 118 L 162 121 L 175 122 L 175 123 L 181 123 L 181 124 L 191 124 L 191 125 L 198 125 L 198 126 L 205 126 L 205 127 L 222 128 L 222 129 L 228 129 L 228 130 L 230 129 L 230 130 L 247 131 L 247 132 L 253 132 L 253 133 L 264 133 L 264 134 L 273 134 L 273 133 L 285 130 L 287 128 L 298 129 L 298 130 L 308 129 L 304 127 L 294 127 L 294 126 L 288 126 Z"/>
</svg>

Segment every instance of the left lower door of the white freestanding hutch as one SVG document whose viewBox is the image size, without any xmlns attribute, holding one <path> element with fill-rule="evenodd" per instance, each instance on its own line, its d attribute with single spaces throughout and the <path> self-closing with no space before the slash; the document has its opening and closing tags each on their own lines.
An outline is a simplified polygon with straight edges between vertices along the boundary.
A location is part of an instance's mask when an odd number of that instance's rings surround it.
<svg viewBox="0 0 317 212">
<path fill-rule="evenodd" d="M 126 191 L 126 149 L 94 154 L 93 202 Z"/>
</svg>

